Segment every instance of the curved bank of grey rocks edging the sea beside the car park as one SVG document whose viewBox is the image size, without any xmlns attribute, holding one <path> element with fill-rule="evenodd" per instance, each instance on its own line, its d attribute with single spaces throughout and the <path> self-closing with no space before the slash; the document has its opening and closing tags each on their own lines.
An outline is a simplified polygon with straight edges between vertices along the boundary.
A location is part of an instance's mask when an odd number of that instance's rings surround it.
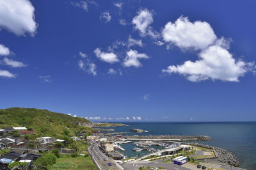
<svg viewBox="0 0 256 170">
<path fill-rule="evenodd" d="M 226 164 L 230 166 L 239 167 L 239 160 L 236 155 L 222 148 L 218 148 L 216 146 L 203 145 L 200 143 L 193 143 L 195 146 L 210 148 L 214 151 L 216 157 L 218 157 L 218 164 Z"/>
</svg>

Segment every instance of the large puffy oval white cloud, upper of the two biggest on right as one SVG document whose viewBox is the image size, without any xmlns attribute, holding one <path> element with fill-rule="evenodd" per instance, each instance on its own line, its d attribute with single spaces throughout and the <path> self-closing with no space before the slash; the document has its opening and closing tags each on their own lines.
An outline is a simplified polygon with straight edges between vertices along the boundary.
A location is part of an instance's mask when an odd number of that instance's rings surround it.
<svg viewBox="0 0 256 170">
<path fill-rule="evenodd" d="M 214 43 L 216 35 L 207 22 L 190 22 L 187 17 L 179 17 L 174 23 L 168 22 L 163 29 L 164 41 L 179 48 L 204 49 Z"/>
</svg>

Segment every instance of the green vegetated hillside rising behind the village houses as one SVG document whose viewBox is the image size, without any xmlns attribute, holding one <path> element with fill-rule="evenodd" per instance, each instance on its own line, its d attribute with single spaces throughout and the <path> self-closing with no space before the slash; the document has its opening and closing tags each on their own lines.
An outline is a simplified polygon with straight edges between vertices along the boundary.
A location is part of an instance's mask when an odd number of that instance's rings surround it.
<svg viewBox="0 0 256 170">
<path fill-rule="evenodd" d="M 85 118 L 72 117 L 63 113 L 35 108 L 8 108 L 0 110 L 0 128 L 20 127 L 36 131 L 36 136 L 76 136 L 81 131 L 92 131 L 74 122 L 90 123 Z"/>
</svg>

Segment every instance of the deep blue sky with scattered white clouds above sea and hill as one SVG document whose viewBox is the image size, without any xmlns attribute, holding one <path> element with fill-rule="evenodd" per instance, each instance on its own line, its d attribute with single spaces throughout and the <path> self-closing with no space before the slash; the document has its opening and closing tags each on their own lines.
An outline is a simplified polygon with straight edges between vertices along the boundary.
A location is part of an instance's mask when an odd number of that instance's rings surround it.
<svg viewBox="0 0 256 170">
<path fill-rule="evenodd" d="M 0 108 L 111 122 L 256 121 L 254 6 L 0 1 Z"/>
</svg>

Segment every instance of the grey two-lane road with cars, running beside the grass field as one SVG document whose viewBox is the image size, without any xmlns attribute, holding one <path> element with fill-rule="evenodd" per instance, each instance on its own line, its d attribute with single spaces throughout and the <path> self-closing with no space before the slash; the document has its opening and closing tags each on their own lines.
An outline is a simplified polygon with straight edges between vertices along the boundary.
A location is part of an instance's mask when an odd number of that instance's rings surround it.
<svg viewBox="0 0 256 170">
<path fill-rule="evenodd" d="M 97 144 L 89 146 L 88 149 L 92 153 L 92 158 L 95 160 L 100 170 L 120 170 L 120 167 L 116 166 L 116 162 L 114 160 L 107 157 L 99 150 L 99 146 Z M 104 158 L 106 158 L 107 161 L 104 161 Z M 112 166 L 109 166 L 109 163 L 111 163 Z"/>
</svg>

